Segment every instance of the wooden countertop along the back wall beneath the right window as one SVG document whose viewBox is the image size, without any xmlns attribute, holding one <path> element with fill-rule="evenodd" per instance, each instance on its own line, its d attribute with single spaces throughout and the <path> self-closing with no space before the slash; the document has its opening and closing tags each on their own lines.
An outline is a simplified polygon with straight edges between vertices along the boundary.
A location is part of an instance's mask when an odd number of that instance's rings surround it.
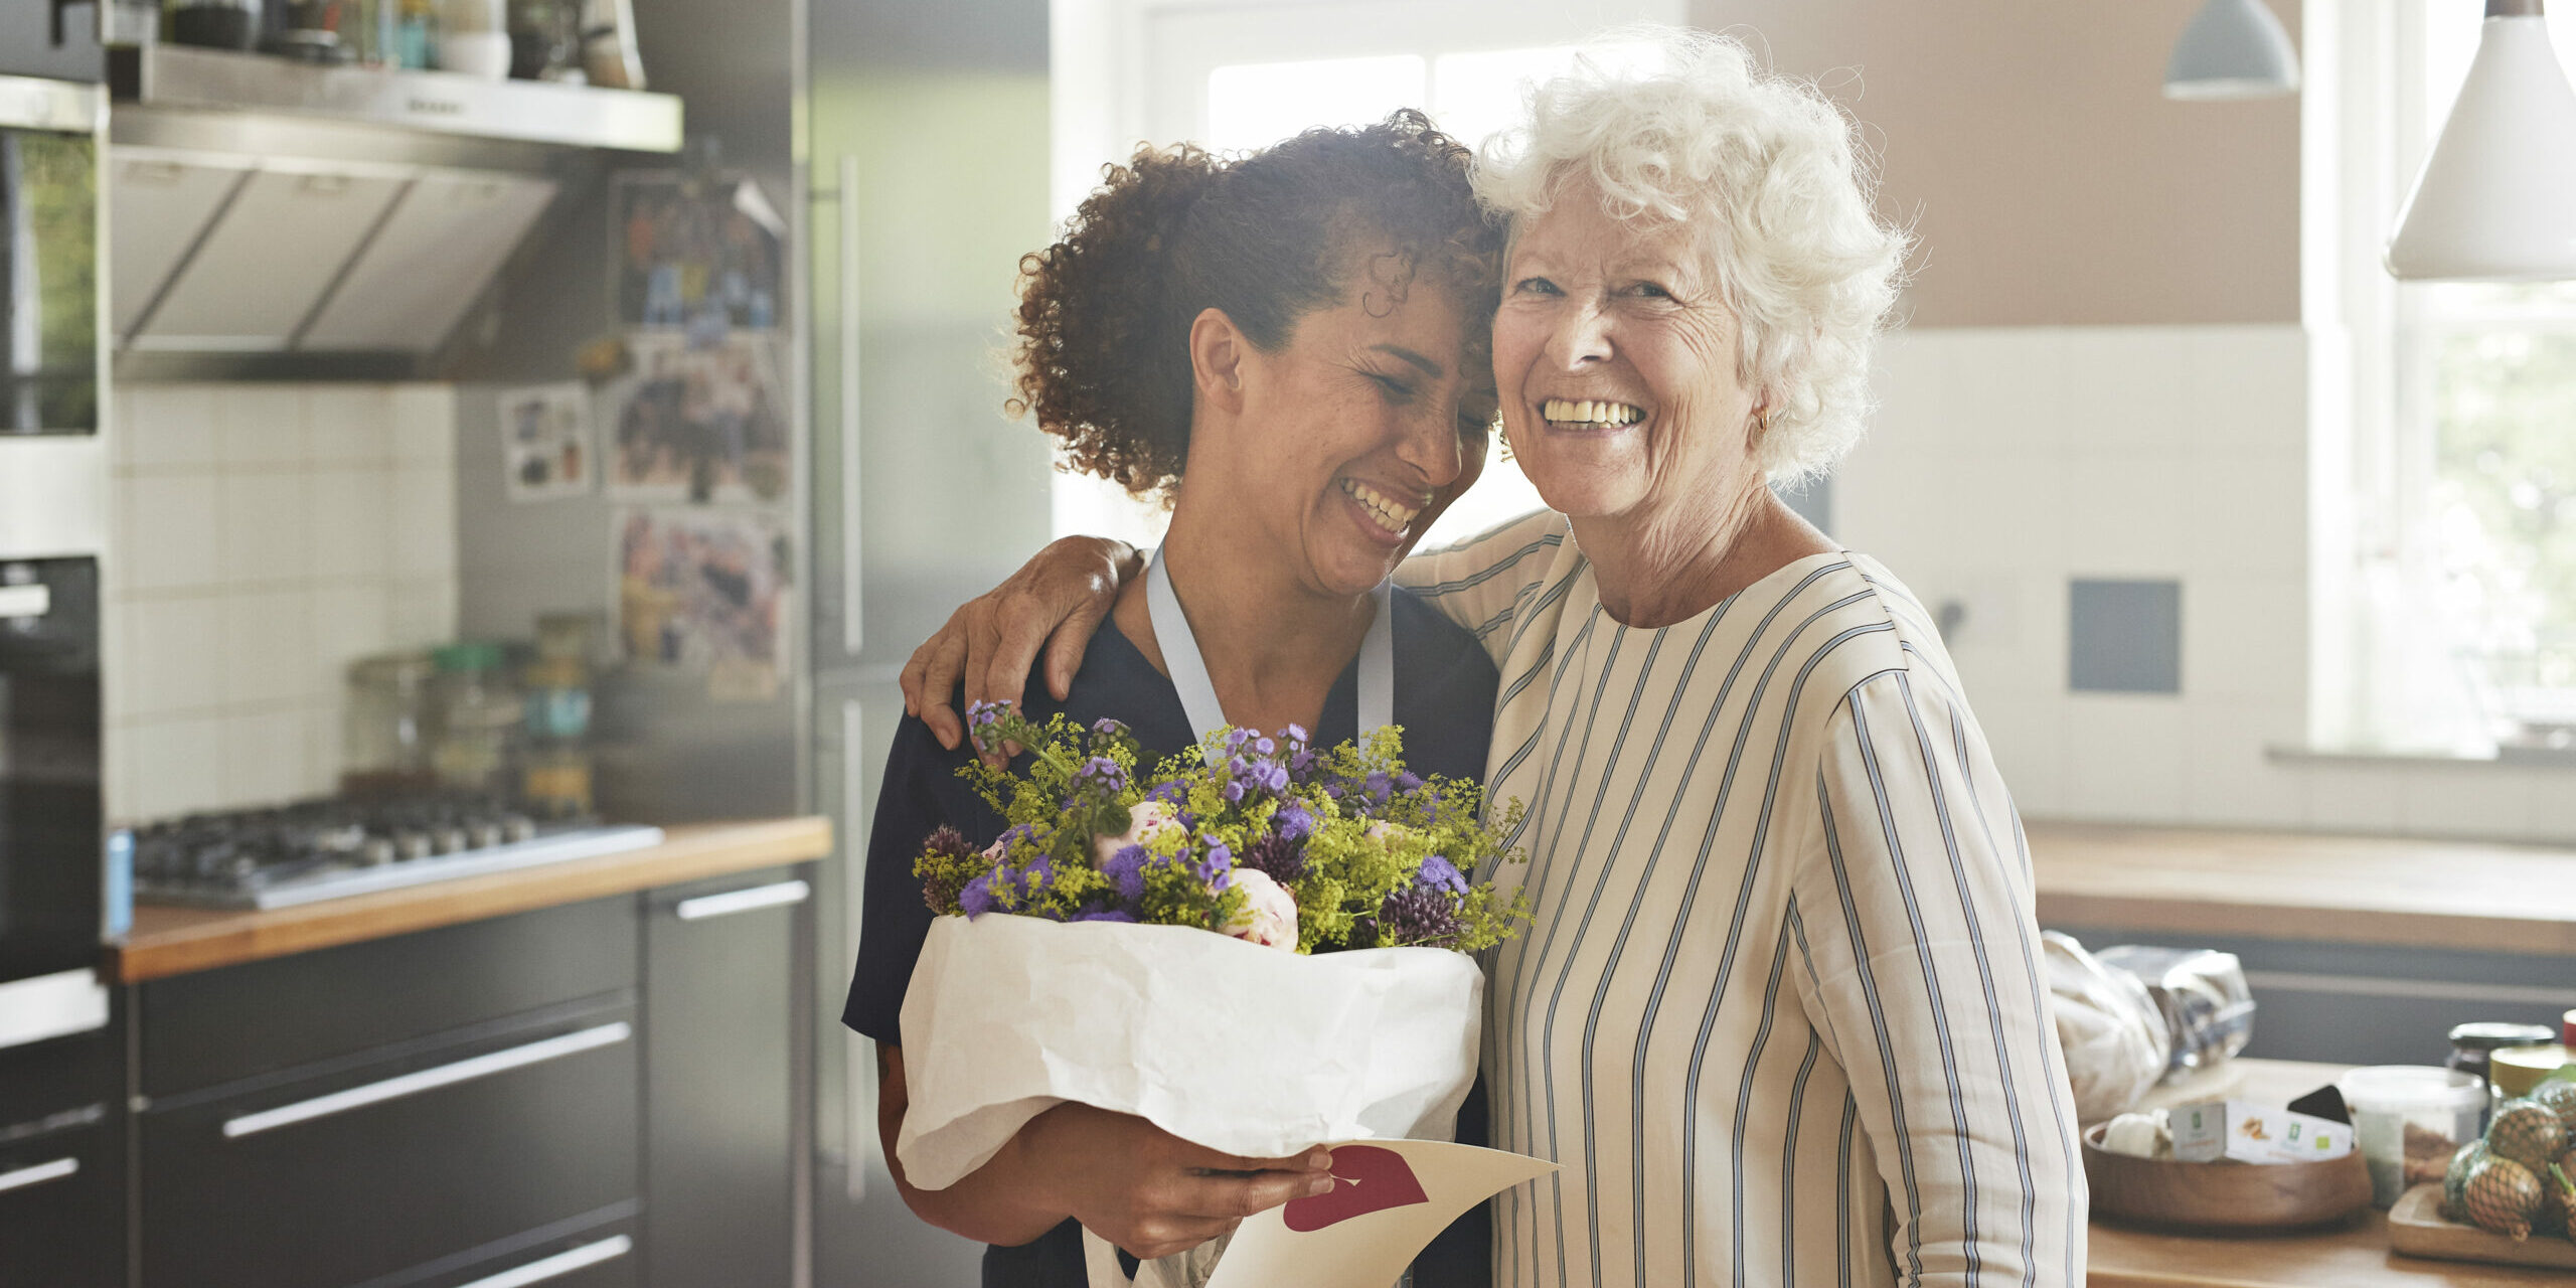
<svg viewBox="0 0 2576 1288">
<path fill-rule="evenodd" d="M 2576 956 L 2576 850 L 2032 822 L 2040 925 Z"/>
</svg>

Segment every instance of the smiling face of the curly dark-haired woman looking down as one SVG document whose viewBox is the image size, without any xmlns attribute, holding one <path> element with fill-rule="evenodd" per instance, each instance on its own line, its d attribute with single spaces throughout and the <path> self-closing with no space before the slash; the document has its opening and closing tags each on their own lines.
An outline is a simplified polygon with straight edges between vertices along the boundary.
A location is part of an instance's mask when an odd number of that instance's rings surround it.
<svg viewBox="0 0 2576 1288">
<path fill-rule="evenodd" d="M 1396 569 L 1484 471 L 1494 422 L 1489 363 L 1471 348 L 1481 327 L 1440 283 L 1404 281 L 1383 250 L 1275 353 L 1244 355 L 1247 440 L 1190 446 L 1190 477 L 1218 466 L 1239 523 L 1329 595 Z"/>
</svg>

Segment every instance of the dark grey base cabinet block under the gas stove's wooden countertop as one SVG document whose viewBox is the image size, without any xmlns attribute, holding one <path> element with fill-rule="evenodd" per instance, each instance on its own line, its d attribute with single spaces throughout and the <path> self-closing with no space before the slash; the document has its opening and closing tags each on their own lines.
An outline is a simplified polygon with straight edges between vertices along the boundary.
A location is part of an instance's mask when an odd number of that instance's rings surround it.
<svg viewBox="0 0 2576 1288">
<path fill-rule="evenodd" d="M 137 1288 L 786 1288 L 811 878 L 732 871 L 142 979 Z"/>
</svg>

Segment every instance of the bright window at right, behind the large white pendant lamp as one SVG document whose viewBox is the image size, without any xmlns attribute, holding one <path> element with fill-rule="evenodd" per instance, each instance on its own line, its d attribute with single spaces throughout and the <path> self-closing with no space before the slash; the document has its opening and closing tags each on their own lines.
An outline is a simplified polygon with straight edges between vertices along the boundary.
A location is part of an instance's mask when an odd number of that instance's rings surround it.
<svg viewBox="0 0 2576 1288">
<path fill-rule="evenodd" d="M 2318 492 L 2347 518 L 2318 531 L 2324 621 L 2347 626 L 2321 631 L 2342 652 L 2316 693 L 2326 742 L 2494 755 L 2576 734 L 2576 283 L 2393 283 L 2378 265 L 2481 15 L 2481 0 L 2347 0 L 2339 28 L 2311 31 L 2339 59 L 2311 116 L 2336 129 L 2326 317 L 2349 335 L 2349 407 L 2318 399 L 2334 415 L 2316 425 L 2352 430 L 2349 471 L 2321 474 L 2349 497 Z M 2550 31 L 2571 62 L 2576 18 Z M 2311 196 L 2321 142 L 2311 129 Z"/>
</svg>

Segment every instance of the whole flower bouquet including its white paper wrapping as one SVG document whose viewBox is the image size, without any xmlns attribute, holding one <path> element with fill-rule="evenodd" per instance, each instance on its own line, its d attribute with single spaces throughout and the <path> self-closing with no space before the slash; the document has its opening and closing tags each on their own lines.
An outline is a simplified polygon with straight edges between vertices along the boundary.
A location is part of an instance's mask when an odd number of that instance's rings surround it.
<svg viewBox="0 0 2576 1288">
<path fill-rule="evenodd" d="M 1468 878 L 1517 858 L 1473 783 L 1406 773 L 1396 729 L 1329 750 L 1226 729 L 1141 770 L 1118 721 L 969 724 L 1033 755 L 961 770 L 999 840 L 943 829 L 914 863 L 943 914 L 902 1010 L 914 1185 L 1064 1100 L 1244 1157 L 1448 1139 L 1476 1077 L 1468 953 L 1528 922 L 1528 896 Z"/>
</svg>

